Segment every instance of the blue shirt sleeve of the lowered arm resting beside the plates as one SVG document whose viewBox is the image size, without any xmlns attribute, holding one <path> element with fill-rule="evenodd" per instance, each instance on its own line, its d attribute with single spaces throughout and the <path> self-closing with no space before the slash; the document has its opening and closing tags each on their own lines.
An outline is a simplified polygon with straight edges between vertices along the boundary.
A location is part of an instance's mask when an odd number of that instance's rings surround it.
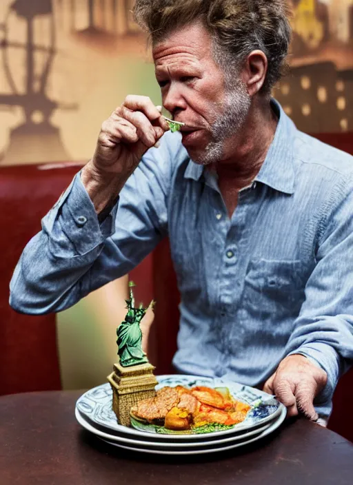
<svg viewBox="0 0 353 485">
<path fill-rule="evenodd" d="M 286 355 L 299 353 L 327 373 L 316 404 L 325 415 L 340 375 L 353 359 L 353 183 L 341 178 L 323 207 L 316 266 Z"/>
</svg>

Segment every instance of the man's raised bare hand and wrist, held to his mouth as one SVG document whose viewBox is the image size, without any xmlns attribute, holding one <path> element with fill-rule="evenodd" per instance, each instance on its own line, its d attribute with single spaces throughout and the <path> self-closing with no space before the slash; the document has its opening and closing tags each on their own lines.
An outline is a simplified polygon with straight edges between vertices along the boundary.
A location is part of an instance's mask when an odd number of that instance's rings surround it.
<svg viewBox="0 0 353 485">
<path fill-rule="evenodd" d="M 104 121 L 94 156 L 81 173 L 97 213 L 117 198 L 142 156 L 168 130 L 161 108 L 147 96 L 127 96 Z"/>
</svg>

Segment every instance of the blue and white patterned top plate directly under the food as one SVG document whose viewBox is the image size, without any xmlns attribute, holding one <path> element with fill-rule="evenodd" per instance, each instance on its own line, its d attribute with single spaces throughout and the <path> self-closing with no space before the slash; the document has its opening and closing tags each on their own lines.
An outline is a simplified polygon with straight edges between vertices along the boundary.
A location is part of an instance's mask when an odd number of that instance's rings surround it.
<svg viewBox="0 0 353 485">
<path fill-rule="evenodd" d="M 254 389 L 250 386 L 237 384 L 221 378 L 201 378 L 196 375 L 160 375 L 157 376 L 159 384 L 156 390 L 165 386 L 208 386 L 208 387 L 228 387 L 232 396 L 241 402 L 252 406 L 245 420 L 235 424 L 232 428 L 224 431 L 214 431 L 205 434 L 161 434 L 157 429 L 158 426 L 148 426 L 148 429 L 133 429 L 127 426 L 121 426 L 117 416 L 112 410 L 112 389 L 109 383 L 90 389 L 77 400 L 77 410 L 80 415 L 97 429 L 104 429 L 105 432 L 115 435 L 126 435 L 141 437 L 143 440 L 210 440 L 212 437 L 226 434 L 241 434 L 257 426 L 274 420 L 283 411 L 283 404 L 277 401 L 273 396 Z M 145 425 L 142 425 L 145 426 Z"/>
</svg>

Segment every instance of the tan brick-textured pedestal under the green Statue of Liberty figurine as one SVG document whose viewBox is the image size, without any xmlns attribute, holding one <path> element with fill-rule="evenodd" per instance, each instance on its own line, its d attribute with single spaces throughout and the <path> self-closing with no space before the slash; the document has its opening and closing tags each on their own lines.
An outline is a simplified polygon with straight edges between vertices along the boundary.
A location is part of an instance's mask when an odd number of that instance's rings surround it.
<svg viewBox="0 0 353 485">
<path fill-rule="evenodd" d="M 122 367 L 114 364 L 114 371 L 108 375 L 113 390 L 113 411 L 119 424 L 130 426 L 130 409 L 138 401 L 154 398 L 154 386 L 158 384 L 152 364 Z"/>
</svg>

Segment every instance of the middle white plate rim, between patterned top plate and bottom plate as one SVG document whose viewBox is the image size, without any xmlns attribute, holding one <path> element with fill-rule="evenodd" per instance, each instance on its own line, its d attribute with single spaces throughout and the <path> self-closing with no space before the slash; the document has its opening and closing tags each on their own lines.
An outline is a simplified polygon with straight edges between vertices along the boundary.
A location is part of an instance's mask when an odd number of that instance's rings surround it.
<svg viewBox="0 0 353 485">
<path fill-rule="evenodd" d="M 94 428 L 88 421 L 84 419 L 84 417 L 81 416 L 80 412 L 78 409 L 75 409 L 75 416 L 79 424 L 83 426 L 83 428 L 87 429 L 87 431 L 90 431 L 90 433 L 94 433 L 94 435 L 97 435 L 98 437 L 102 438 L 103 440 L 107 440 L 108 442 L 118 442 L 118 443 L 123 443 L 123 444 L 130 444 L 131 446 L 149 446 L 150 448 L 180 448 L 180 449 L 189 449 L 189 448 L 197 448 L 197 447 L 207 447 L 207 446 L 212 446 L 214 444 L 222 444 L 222 443 L 228 443 L 228 442 L 234 442 L 234 441 L 240 441 L 240 440 L 245 440 L 248 439 L 249 437 L 259 435 L 266 429 L 268 429 L 272 423 L 264 424 L 263 426 L 256 428 L 252 431 L 249 431 L 248 433 L 244 433 L 242 435 L 233 435 L 233 436 L 228 436 L 228 437 L 218 437 L 218 439 L 210 440 L 210 441 L 202 441 L 202 442 L 161 442 L 161 441 L 141 441 L 137 440 L 134 437 L 128 438 L 122 435 L 112 435 L 108 433 L 104 433 L 100 429 Z"/>
</svg>

